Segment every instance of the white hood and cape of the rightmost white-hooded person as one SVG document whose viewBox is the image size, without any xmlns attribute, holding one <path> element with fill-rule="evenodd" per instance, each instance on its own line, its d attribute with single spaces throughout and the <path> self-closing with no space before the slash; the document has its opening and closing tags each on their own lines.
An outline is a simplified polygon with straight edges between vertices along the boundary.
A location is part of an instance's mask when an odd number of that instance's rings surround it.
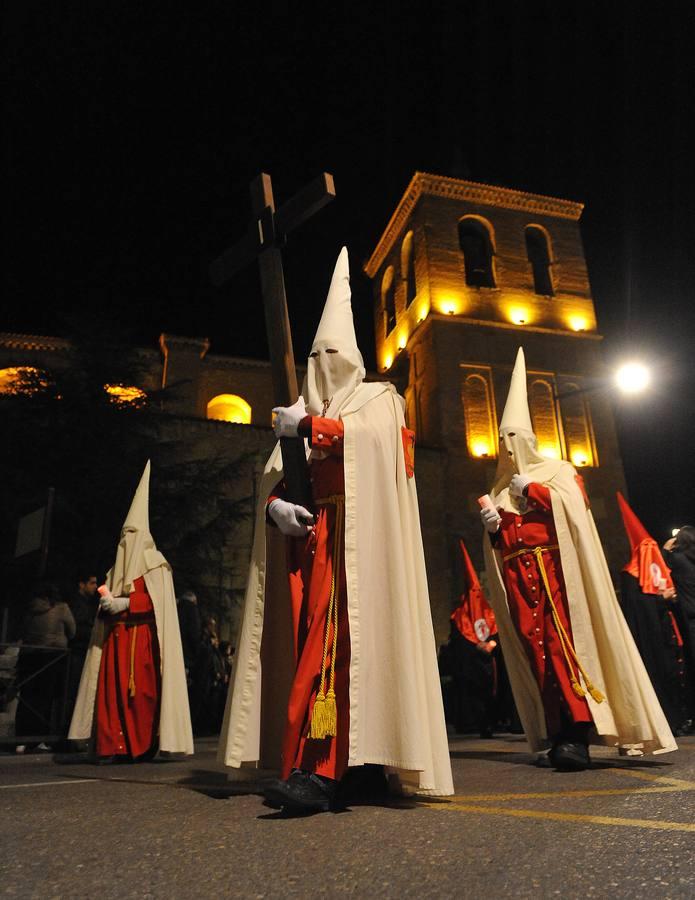
<svg viewBox="0 0 695 900">
<path fill-rule="evenodd" d="M 520 476 L 520 479 L 517 477 Z M 528 409 L 526 368 L 520 348 L 500 423 L 500 455 L 490 496 L 495 507 L 523 521 L 525 501 L 510 483 L 548 489 L 576 660 L 568 665 L 586 699 L 593 727 L 591 743 L 623 752 L 663 753 L 676 749 L 671 730 L 620 610 L 591 511 L 575 469 L 537 449 Z M 485 521 L 485 510 L 481 516 Z M 488 529 L 491 530 L 491 529 Z M 510 615 L 502 554 L 484 540 L 489 599 L 495 611 L 505 662 L 524 731 L 534 751 L 547 747 L 543 700 L 529 657 Z M 507 557 L 509 558 L 509 557 Z"/>
</svg>

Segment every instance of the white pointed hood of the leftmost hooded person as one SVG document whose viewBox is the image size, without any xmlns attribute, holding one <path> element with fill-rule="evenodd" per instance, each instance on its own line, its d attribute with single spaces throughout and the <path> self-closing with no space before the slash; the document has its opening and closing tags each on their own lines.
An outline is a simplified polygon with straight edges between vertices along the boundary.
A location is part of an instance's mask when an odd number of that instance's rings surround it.
<svg viewBox="0 0 695 900">
<path fill-rule="evenodd" d="M 125 597 L 133 590 L 133 582 L 159 566 L 169 564 L 157 550 L 150 534 L 149 515 L 150 461 L 142 473 L 133 502 L 121 528 L 116 561 L 106 576 L 106 584 L 114 597 Z"/>
</svg>

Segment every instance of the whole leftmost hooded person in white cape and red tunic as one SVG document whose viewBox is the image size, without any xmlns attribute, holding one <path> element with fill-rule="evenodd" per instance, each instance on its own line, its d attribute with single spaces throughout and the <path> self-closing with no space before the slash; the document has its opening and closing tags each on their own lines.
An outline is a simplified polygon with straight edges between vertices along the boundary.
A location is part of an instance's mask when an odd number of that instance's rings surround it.
<svg viewBox="0 0 695 900">
<path fill-rule="evenodd" d="M 123 523 L 82 669 L 68 737 L 98 760 L 193 753 L 171 568 L 149 524 L 150 463 Z"/>
</svg>

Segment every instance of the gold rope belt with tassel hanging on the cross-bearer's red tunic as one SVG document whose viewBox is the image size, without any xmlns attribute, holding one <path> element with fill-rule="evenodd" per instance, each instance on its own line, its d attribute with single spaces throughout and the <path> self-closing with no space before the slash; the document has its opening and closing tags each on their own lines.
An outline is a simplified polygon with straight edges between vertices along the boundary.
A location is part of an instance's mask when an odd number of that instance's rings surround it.
<svg viewBox="0 0 695 900">
<path fill-rule="evenodd" d="M 311 724 L 309 737 L 313 740 L 323 740 L 327 737 L 335 737 L 338 733 L 338 709 L 335 702 L 335 658 L 338 651 L 338 601 L 340 599 L 340 551 L 343 544 L 343 511 L 345 509 L 345 497 L 343 494 L 333 494 L 322 500 L 316 501 L 317 506 L 332 504 L 335 506 L 335 527 L 333 529 L 333 565 L 331 571 L 331 593 L 328 598 L 328 611 L 326 613 L 326 634 L 323 639 L 323 660 L 321 662 L 321 682 L 319 692 L 314 700 L 314 708 L 311 712 Z M 331 671 L 326 691 L 326 669 L 328 661 L 328 643 L 333 624 L 333 640 L 331 641 Z"/>
</svg>

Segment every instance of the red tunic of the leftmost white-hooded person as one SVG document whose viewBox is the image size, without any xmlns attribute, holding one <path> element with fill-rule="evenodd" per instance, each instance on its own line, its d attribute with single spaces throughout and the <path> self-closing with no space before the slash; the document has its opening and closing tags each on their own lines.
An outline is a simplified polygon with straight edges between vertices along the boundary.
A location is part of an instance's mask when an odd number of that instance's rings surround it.
<svg viewBox="0 0 695 900">
<path fill-rule="evenodd" d="M 130 607 L 100 613 L 106 640 L 96 701 L 97 756 L 136 759 L 156 752 L 161 677 L 154 608 L 145 580 L 136 578 Z"/>
</svg>

